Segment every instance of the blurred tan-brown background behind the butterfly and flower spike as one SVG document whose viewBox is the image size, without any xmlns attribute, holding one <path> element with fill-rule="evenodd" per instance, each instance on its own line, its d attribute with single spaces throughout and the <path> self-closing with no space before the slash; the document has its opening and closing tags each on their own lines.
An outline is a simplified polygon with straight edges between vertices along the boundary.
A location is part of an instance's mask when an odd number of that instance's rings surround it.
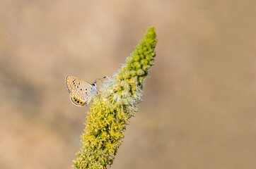
<svg viewBox="0 0 256 169">
<path fill-rule="evenodd" d="M 88 107 L 146 29 L 156 61 L 112 169 L 256 168 L 253 1 L 0 0 L 0 168 L 71 168 Z"/>
</svg>

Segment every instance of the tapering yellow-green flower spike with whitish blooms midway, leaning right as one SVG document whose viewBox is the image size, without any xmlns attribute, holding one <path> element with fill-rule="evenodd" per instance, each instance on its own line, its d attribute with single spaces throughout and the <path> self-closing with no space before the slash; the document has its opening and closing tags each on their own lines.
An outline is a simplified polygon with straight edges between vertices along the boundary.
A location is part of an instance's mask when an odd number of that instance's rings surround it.
<svg viewBox="0 0 256 169">
<path fill-rule="evenodd" d="M 142 101 L 142 87 L 153 65 L 156 46 L 154 27 L 127 57 L 122 68 L 103 83 L 88 112 L 86 129 L 81 135 L 81 150 L 73 161 L 76 168 L 105 169 L 113 163 L 124 138 L 129 118 Z"/>
</svg>

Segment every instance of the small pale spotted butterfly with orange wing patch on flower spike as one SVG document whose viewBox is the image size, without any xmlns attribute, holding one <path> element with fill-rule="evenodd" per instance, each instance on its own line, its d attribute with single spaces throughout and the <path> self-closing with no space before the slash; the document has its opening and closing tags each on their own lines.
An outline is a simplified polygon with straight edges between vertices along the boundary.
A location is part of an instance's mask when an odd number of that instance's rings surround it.
<svg viewBox="0 0 256 169">
<path fill-rule="evenodd" d="M 91 98 L 97 93 L 96 82 L 97 80 L 91 84 L 73 76 L 66 76 L 65 84 L 70 93 L 71 102 L 76 106 L 88 106 Z"/>
</svg>

